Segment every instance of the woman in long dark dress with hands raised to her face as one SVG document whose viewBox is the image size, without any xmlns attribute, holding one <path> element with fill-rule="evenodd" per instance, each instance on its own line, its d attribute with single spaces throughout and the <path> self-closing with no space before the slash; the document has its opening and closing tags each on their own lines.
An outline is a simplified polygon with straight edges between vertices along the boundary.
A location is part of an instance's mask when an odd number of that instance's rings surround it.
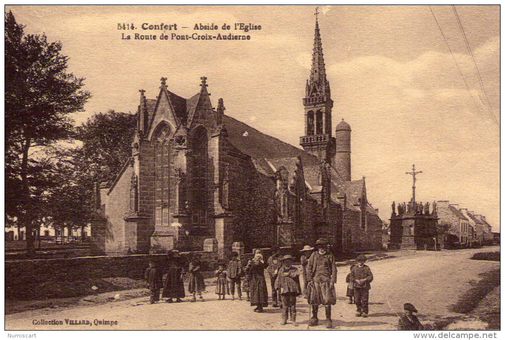
<svg viewBox="0 0 505 340">
<path fill-rule="evenodd" d="M 263 260 L 263 255 L 255 254 L 249 268 L 249 289 L 251 306 L 256 306 L 255 312 L 263 312 L 263 307 L 268 306 L 267 281 L 265 280 L 265 269 L 268 264 Z"/>
</svg>

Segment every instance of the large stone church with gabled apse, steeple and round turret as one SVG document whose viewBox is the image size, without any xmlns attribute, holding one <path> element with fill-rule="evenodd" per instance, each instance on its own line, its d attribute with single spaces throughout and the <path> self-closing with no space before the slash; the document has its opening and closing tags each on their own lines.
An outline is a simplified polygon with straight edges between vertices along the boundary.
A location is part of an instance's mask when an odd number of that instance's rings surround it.
<svg viewBox="0 0 505 340">
<path fill-rule="evenodd" d="M 156 253 L 232 243 L 301 247 L 325 237 L 336 252 L 381 247 L 382 221 L 365 178 L 351 180 L 350 126 L 332 134 L 333 100 L 316 20 L 306 84 L 302 149 L 213 107 L 207 78 L 182 98 L 161 79 L 157 99 L 140 90 L 131 158 L 113 183 L 96 186 L 98 253 Z M 301 111 L 301 110 L 300 110 Z"/>
</svg>

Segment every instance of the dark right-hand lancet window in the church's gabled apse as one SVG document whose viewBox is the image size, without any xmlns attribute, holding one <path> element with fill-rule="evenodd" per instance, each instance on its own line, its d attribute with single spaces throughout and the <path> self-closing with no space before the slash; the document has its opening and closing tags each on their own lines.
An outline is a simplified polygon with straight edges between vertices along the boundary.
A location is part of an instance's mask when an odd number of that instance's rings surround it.
<svg viewBox="0 0 505 340">
<path fill-rule="evenodd" d="M 203 127 L 195 130 L 191 141 L 191 191 L 192 191 L 192 222 L 194 225 L 207 226 L 207 210 L 209 204 L 209 139 Z"/>
</svg>

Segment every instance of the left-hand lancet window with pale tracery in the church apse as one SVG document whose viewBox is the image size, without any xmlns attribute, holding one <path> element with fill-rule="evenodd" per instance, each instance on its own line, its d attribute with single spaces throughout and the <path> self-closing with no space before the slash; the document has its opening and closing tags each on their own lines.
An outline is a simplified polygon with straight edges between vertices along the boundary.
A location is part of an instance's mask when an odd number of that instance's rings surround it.
<svg viewBox="0 0 505 340">
<path fill-rule="evenodd" d="M 155 165 L 155 224 L 169 226 L 170 207 L 170 129 L 158 128 L 154 142 Z"/>
</svg>

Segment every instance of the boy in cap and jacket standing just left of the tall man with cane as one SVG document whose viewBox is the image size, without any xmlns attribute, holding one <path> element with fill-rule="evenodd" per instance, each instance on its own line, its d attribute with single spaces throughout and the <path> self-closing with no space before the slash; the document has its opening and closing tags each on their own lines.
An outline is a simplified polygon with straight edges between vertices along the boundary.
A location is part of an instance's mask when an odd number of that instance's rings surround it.
<svg viewBox="0 0 505 340">
<path fill-rule="evenodd" d="M 291 255 L 284 255 L 280 260 L 275 289 L 280 295 L 282 302 L 282 322 L 287 323 L 288 313 L 291 314 L 293 326 L 296 323 L 296 297 L 301 294 L 299 272 L 292 266 L 294 258 Z"/>
</svg>

